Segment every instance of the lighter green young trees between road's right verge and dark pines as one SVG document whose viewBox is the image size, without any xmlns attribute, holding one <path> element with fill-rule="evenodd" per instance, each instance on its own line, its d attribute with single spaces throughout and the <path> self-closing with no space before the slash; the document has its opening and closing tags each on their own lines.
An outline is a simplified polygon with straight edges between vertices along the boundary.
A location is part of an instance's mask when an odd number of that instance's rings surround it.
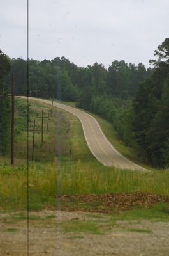
<svg viewBox="0 0 169 256">
<path fill-rule="evenodd" d="M 131 99 L 124 100 L 117 97 L 108 97 L 106 94 L 93 95 L 93 93 L 88 92 L 87 89 L 88 88 L 86 88 L 77 106 L 89 110 L 92 113 L 96 113 L 111 122 L 114 129 L 118 132 L 119 139 L 125 141 L 127 145 L 132 145 L 131 116 L 133 112 Z"/>
</svg>

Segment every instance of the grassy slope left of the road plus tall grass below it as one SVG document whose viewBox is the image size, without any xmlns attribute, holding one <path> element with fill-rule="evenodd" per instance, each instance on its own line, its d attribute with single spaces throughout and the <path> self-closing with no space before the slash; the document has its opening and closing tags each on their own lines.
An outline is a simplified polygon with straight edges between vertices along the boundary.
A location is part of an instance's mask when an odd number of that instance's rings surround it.
<svg viewBox="0 0 169 256">
<path fill-rule="evenodd" d="M 26 100 L 20 100 L 26 104 Z M 47 116 L 48 107 L 37 102 L 30 106 L 29 127 L 41 126 L 41 109 Z M 19 108 L 17 115 L 20 114 Z M 57 123 L 59 116 L 59 124 Z M 47 127 L 47 118 L 44 128 Z M 101 120 L 101 127 L 108 139 L 111 125 Z M 57 127 L 57 128 L 56 128 Z M 26 129 L 26 128 L 25 128 Z M 62 132 L 60 136 L 59 132 Z M 108 135 L 109 134 L 109 135 Z M 114 133 L 112 133 L 112 137 Z M 62 140 L 59 140 L 59 137 Z M 100 164 L 91 154 L 82 133 L 80 121 L 70 113 L 54 110 L 48 133 L 44 131 L 43 145 L 41 134 L 36 132 L 34 162 L 31 162 L 33 132 L 29 133 L 29 209 L 43 209 L 56 204 L 57 186 L 61 184 L 61 193 L 101 194 L 145 191 L 169 196 L 169 171 L 153 170 L 152 172 L 133 172 L 117 170 Z M 116 140 L 118 145 L 119 141 Z M 111 141 L 110 140 L 110 141 Z M 112 142 L 111 141 L 111 142 Z M 120 144 L 120 143 L 119 143 Z M 121 147 L 124 147 L 122 145 Z M 61 157 L 55 152 L 61 148 Z M 125 147 L 124 147 L 125 148 Z M 71 155 L 70 155 L 71 149 Z M 132 153 L 133 154 L 133 153 Z M 27 132 L 18 131 L 15 146 L 16 166 L 11 168 L 9 159 L 1 158 L 0 198 L 1 209 L 26 209 L 27 207 Z M 73 202 L 71 202 L 73 204 Z"/>
</svg>

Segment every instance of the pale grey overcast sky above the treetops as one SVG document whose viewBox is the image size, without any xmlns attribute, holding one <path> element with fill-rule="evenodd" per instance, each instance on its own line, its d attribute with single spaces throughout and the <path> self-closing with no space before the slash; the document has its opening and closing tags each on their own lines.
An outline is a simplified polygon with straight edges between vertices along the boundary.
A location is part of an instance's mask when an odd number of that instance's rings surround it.
<svg viewBox="0 0 169 256">
<path fill-rule="evenodd" d="M 27 0 L 0 0 L 0 49 L 27 59 Z M 29 0 L 29 58 L 149 67 L 169 37 L 169 0 Z"/>
</svg>

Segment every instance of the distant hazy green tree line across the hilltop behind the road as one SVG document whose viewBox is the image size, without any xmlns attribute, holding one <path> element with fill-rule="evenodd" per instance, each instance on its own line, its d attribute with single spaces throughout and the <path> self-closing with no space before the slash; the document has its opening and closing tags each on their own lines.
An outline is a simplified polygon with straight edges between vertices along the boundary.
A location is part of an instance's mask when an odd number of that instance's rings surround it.
<svg viewBox="0 0 169 256">
<path fill-rule="evenodd" d="M 60 97 L 62 100 L 77 101 L 84 91 L 102 95 L 114 95 L 127 99 L 135 95 L 140 81 L 152 73 L 152 68 L 145 68 L 142 63 L 135 66 L 125 61 L 113 61 L 108 70 L 98 63 L 87 67 L 77 67 L 64 57 L 53 60 L 29 60 L 29 76 L 27 76 L 27 61 L 21 58 L 10 60 L 11 69 L 5 79 L 10 86 L 11 74 L 15 72 L 16 93 L 27 94 L 27 79 L 29 90 L 40 97 Z M 60 82 L 59 82 L 60 81 Z"/>
</svg>

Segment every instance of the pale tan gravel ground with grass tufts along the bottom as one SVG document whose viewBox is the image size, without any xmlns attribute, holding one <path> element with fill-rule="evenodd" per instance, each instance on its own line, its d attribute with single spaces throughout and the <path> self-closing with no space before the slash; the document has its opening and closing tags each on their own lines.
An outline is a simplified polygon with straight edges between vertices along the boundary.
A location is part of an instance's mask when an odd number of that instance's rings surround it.
<svg viewBox="0 0 169 256">
<path fill-rule="evenodd" d="M 23 217 L 24 216 L 24 217 Z M 65 230 L 62 223 L 71 225 L 107 223 L 103 234 Z M 95 222 L 94 222 L 95 221 Z M 110 215 L 86 212 L 30 212 L 29 255 L 57 256 L 168 256 L 169 223 L 155 221 L 116 221 Z M 20 212 L 1 214 L 0 255 L 27 254 L 27 220 Z"/>
</svg>

